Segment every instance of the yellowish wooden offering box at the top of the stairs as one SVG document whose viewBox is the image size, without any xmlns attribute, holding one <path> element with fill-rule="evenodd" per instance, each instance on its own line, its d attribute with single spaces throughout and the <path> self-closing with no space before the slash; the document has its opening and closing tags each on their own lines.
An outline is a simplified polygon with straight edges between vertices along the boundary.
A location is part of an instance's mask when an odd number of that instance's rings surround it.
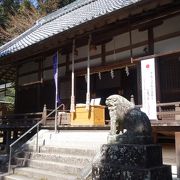
<svg viewBox="0 0 180 180">
<path fill-rule="evenodd" d="M 90 106 L 89 111 L 86 105 L 76 106 L 76 111 L 71 113 L 71 125 L 101 125 L 105 124 L 105 107 L 101 105 Z"/>
</svg>

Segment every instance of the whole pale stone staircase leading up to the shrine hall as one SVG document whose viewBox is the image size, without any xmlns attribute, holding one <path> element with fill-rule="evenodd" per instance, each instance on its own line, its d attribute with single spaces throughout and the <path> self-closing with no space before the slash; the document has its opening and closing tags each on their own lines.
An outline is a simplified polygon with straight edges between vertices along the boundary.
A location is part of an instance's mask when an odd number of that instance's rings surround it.
<svg viewBox="0 0 180 180">
<path fill-rule="evenodd" d="M 13 159 L 13 173 L 3 180 L 91 179 L 93 158 L 106 143 L 108 131 L 41 130 L 36 152 L 36 135 Z"/>
</svg>

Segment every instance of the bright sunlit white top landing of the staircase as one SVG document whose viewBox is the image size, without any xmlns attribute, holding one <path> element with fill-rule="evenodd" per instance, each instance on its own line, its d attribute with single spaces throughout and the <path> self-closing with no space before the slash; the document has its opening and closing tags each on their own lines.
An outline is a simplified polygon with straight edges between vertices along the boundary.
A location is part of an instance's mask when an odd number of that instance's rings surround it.
<svg viewBox="0 0 180 180">
<path fill-rule="evenodd" d="M 99 149 L 107 142 L 108 131 L 99 130 L 61 130 L 54 133 L 50 130 L 41 130 L 38 134 L 39 146 L 71 146 L 71 147 L 88 147 L 90 149 Z M 36 135 L 27 142 L 27 145 L 36 145 Z"/>
</svg>

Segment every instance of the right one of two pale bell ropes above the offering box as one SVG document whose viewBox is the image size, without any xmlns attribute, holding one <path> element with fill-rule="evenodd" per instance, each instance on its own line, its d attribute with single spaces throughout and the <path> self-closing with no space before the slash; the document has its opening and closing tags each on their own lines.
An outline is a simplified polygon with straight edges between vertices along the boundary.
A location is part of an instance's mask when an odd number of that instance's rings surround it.
<svg viewBox="0 0 180 180">
<path fill-rule="evenodd" d="M 87 59 L 87 93 L 86 93 L 86 110 L 90 108 L 90 44 L 91 35 L 89 35 L 88 41 L 88 59 Z"/>
</svg>

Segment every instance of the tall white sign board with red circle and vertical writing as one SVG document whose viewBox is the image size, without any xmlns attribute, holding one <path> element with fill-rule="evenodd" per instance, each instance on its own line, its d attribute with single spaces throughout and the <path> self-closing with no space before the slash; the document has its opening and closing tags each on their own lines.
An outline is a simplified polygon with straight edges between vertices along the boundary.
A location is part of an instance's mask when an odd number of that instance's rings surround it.
<svg viewBox="0 0 180 180">
<path fill-rule="evenodd" d="M 150 120 L 157 119 L 154 58 L 141 61 L 142 111 Z"/>
</svg>

